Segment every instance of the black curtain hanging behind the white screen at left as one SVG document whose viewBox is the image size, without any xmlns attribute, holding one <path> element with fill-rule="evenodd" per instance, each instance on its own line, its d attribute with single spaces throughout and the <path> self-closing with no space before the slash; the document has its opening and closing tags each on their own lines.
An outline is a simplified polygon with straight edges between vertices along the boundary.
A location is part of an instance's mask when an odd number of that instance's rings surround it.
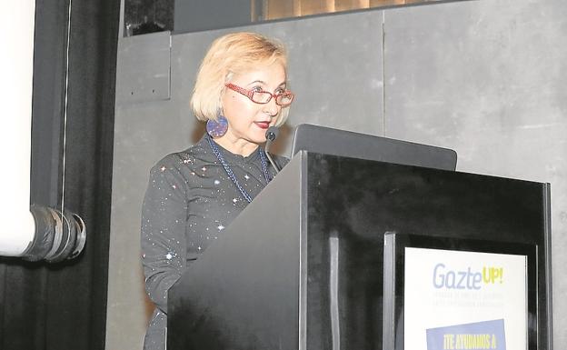
<svg viewBox="0 0 567 350">
<path fill-rule="evenodd" d="M 60 208 L 65 192 L 87 241 L 59 264 L 0 259 L 0 349 L 102 350 L 120 0 L 35 6 L 31 203 Z"/>
</svg>

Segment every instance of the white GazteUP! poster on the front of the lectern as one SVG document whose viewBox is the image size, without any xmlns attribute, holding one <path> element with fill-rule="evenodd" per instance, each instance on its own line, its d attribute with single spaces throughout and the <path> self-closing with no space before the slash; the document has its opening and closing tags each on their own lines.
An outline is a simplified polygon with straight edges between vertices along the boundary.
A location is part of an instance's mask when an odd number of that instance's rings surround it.
<svg viewBox="0 0 567 350">
<path fill-rule="evenodd" d="M 527 349 L 527 256 L 405 248 L 404 348 Z"/>
</svg>

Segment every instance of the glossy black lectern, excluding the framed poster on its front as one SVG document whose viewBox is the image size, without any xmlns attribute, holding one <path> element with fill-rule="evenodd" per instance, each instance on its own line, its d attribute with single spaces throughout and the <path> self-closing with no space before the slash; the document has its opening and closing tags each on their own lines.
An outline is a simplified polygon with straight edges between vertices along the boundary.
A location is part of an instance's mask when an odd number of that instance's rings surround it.
<svg viewBox="0 0 567 350">
<path fill-rule="evenodd" d="M 382 349 L 389 232 L 537 245 L 552 342 L 547 184 L 302 151 L 225 230 L 169 292 L 170 350 Z"/>
</svg>

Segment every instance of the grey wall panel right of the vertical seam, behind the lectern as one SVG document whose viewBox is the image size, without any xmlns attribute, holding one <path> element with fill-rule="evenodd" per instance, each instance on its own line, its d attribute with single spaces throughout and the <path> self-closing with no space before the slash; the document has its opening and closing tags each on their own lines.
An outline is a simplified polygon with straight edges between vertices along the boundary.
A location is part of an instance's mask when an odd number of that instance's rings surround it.
<svg viewBox="0 0 567 350">
<path fill-rule="evenodd" d="M 552 184 L 554 338 L 567 345 L 567 2 L 385 12 L 386 135 L 453 148 L 462 171 Z"/>
</svg>

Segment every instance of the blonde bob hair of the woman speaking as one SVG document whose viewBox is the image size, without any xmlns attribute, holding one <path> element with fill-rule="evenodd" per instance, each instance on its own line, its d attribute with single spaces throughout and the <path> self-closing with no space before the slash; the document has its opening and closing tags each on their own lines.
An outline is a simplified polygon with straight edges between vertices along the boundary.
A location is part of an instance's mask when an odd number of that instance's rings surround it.
<svg viewBox="0 0 567 350">
<path fill-rule="evenodd" d="M 234 75 L 253 71 L 259 65 L 278 62 L 287 67 L 284 45 L 256 33 L 233 33 L 216 40 L 204 56 L 191 97 L 191 109 L 201 121 L 216 120 L 222 111 L 224 84 Z M 289 106 L 282 108 L 275 125 L 284 124 Z"/>
</svg>

